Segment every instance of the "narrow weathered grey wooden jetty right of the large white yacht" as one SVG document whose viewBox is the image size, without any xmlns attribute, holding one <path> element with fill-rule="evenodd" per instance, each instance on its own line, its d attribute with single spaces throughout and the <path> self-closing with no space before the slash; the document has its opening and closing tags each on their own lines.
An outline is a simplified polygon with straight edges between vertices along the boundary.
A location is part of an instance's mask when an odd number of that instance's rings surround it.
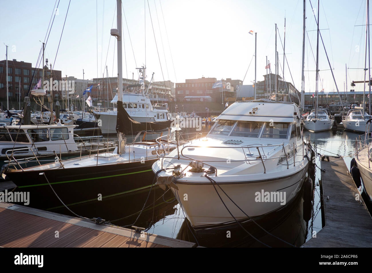
<svg viewBox="0 0 372 273">
<path fill-rule="evenodd" d="M 302 247 L 372 247 L 372 218 L 343 158 L 321 162 L 325 227 Z M 329 199 L 327 200 L 327 198 Z"/>
</svg>

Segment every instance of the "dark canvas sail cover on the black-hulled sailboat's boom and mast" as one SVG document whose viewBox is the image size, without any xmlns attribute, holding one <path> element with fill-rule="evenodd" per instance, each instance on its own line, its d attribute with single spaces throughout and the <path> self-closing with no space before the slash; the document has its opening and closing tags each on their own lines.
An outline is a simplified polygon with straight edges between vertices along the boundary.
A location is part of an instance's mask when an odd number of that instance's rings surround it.
<svg viewBox="0 0 372 273">
<path fill-rule="evenodd" d="M 133 134 L 139 131 L 161 130 L 170 127 L 171 120 L 138 122 L 135 121 L 123 107 L 123 102 L 118 101 L 118 115 L 116 117 L 116 132 Z"/>
</svg>

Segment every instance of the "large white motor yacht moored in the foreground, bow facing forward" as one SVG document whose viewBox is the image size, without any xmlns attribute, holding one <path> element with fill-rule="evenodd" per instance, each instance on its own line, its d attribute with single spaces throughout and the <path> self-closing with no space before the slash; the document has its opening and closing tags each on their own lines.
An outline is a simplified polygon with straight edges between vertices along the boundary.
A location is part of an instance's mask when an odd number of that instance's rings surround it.
<svg viewBox="0 0 372 273">
<path fill-rule="evenodd" d="M 295 198 L 307 176 L 310 152 L 300 124 L 295 103 L 235 102 L 205 137 L 154 163 L 157 184 L 171 189 L 195 230 L 274 212 Z"/>
</svg>

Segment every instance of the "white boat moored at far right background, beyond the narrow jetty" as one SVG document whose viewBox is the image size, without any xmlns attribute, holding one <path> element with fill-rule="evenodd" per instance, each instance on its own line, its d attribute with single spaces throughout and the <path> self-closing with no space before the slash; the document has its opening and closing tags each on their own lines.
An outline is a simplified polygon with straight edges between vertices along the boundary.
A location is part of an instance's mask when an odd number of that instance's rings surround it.
<svg viewBox="0 0 372 273">
<path fill-rule="evenodd" d="M 356 107 L 360 108 L 360 107 Z M 362 113 L 361 109 L 352 109 L 347 112 L 346 118 L 342 119 L 342 125 L 346 130 L 349 131 L 356 131 L 360 133 L 365 133 L 367 131 L 372 130 L 372 124 L 368 124 L 368 128 L 366 128 L 367 121 L 371 118 L 370 115 Z"/>
</svg>

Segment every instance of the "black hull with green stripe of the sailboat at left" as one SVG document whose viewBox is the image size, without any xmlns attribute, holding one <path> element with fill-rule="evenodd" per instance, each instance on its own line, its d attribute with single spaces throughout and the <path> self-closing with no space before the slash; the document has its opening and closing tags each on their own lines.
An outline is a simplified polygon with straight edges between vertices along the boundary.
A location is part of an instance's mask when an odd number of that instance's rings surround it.
<svg viewBox="0 0 372 273">
<path fill-rule="evenodd" d="M 18 186 L 16 192 L 29 192 L 29 206 L 54 209 L 62 205 L 56 194 L 67 206 L 150 189 L 154 174 L 151 166 L 157 159 L 83 168 L 12 171 L 6 175 Z M 40 173 L 45 173 L 47 179 Z"/>
</svg>

